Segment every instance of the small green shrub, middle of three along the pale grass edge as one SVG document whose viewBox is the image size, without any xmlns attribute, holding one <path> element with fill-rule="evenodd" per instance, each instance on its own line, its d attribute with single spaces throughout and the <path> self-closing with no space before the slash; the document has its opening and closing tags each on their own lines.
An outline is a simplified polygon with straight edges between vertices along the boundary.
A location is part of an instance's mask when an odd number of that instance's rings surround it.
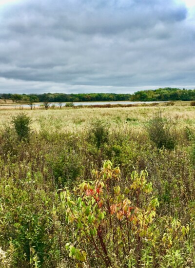
<svg viewBox="0 0 195 268">
<path fill-rule="evenodd" d="M 91 128 L 89 136 L 98 148 L 108 141 L 109 126 L 107 122 L 96 120 Z"/>
</svg>

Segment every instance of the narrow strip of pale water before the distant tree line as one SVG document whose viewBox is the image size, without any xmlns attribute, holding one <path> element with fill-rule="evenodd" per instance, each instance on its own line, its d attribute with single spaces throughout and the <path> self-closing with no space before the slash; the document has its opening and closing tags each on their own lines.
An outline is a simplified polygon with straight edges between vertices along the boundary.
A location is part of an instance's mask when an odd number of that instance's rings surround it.
<svg viewBox="0 0 195 268">
<path fill-rule="evenodd" d="M 141 104 L 141 103 L 162 103 L 165 101 L 93 101 L 93 102 L 74 102 L 74 106 L 83 106 L 83 105 L 106 105 L 106 104 Z M 58 102 L 51 102 L 50 107 L 52 105 L 55 105 L 56 107 L 59 107 L 59 103 Z M 62 102 L 62 106 L 65 106 L 66 102 Z M 10 105 L 9 105 L 10 106 Z M 17 104 L 17 105 L 11 105 L 11 106 L 15 106 L 16 108 L 29 108 L 30 106 L 28 104 Z M 42 107 L 43 103 L 39 103 L 39 104 L 33 104 L 33 107 Z"/>
</svg>

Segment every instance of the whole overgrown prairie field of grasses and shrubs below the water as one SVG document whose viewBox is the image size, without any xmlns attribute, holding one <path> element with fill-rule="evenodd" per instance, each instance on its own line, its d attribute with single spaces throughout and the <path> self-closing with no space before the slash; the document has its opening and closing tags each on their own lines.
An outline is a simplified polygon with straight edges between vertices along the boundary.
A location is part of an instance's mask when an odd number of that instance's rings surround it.
<svg viewBox="0 0 195 268">
<path fill-rule="evenodd" d="M 0 130 L 0 267 L 195 267 L 188 102 L 1 107 Z"/>
</svg>

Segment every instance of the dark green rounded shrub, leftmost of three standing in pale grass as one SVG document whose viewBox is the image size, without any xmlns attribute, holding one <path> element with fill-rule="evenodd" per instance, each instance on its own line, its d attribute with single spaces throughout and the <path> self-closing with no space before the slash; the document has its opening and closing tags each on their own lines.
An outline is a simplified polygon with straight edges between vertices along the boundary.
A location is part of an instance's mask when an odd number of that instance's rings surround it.
<svg viewBox="0 0 195 268">
<path fill-rule="evenodd" d="M 17 116 L 12 117 L 12 124 L 15 131 L 19 136 L 19 139 L 28 139 L 30 134 L 31 118 L 24 113 L 20 113 Z"/>
</svg>

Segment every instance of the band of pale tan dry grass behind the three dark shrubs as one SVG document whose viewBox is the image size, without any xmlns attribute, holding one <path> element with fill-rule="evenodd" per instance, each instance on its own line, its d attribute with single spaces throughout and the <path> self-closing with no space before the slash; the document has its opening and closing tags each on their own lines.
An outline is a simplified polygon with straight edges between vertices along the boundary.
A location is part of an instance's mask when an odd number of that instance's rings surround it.
<svg viewBox="0 0 195 268">
<path fill-rule="evenodd" d="M 177 128 L 184 125 L 195 125 L 195 109 L 191 106 L 160 107 L 162 115 L 177 122 Z M 22 112 L 31 116 L 32 129 L 48 129 L 50 131 L 82 132 L 96 119 L 104 119 L 111 123 L 113 129 L 136 128 L 141 130 L 143 125 L 159 110 L 159 107 L 125 107 L 125 108 L 64 108 L 49 110 L 29 110 Z M 0 127 L 8 124 L 12 116 L 21 113 L 20 110 L 0 110 Z"/>
</svg>

